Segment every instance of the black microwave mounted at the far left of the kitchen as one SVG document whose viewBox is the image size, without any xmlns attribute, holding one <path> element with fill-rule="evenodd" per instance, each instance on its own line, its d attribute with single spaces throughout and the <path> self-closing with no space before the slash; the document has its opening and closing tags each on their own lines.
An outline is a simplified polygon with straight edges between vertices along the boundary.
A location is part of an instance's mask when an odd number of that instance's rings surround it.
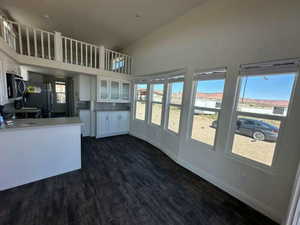
<svg viewBox="0 0 300 225">
<path fill-rule="evenodd" d="M 11 100 L 20 100 L 26 91 L 26 84 L 23 78 L 17 74 L 7 73 L 7 97 Z"/>
</svg>

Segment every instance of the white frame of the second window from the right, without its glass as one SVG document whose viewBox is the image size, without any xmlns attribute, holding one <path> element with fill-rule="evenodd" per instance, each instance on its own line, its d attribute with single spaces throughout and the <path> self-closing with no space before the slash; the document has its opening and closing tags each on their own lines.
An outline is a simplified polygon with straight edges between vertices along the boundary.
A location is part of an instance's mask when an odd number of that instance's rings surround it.
<svg viewBox="0 0 300 225">
<path fill-rule="evenodd" d="M 192 101 L 191 101 L 191 106 L 189 109 L 190 115 L 189 115 L 189 129 L 188 129 L 188 140 L 190 142 L 194 142 L 195 144 L 205 144 L 207 146 L 209 146 L 209 150 L 211 151 L 215 151 L 216 150 L 216 143 L 218 140 L 218 136 L 219 136 L 219 129 L 220 129 L 220 117 L 221 114 L 224 110 L 224 93 L 225 93 L 225 87 L 226 87 L 226 77 L 227 77 L 227 69 L 226 68 L 222 68 L 219 70 L 216 70 L 216 72 L 214 71 L 208 71 L 208 72 L 201 72 L 200 75 L 196 75 L 197 73 L 194 74 L 194 78 L 193 78 L 193 86 L 192 86 Z M 223 87 L 223 97 L 222 97 L 222 102 L 221 102 L 221 107 L 220 108 L 209 108 L 209 107 L 198 107 L 195 106 L 195 102 L 196 102 L 196 93 L 197 93 L 197 84 L 198 81 L 209 81 L 209 80 L 224 80 L 224 87 Z M 192 132 L 193 132 L 193 124 L 194 124 L 194 112 L 195 110 L 206 110 L 206 111 L 211 111 L 211 112 L 216 112 L 218 113 L 218 119 L 217 119 L 217 123 L 218 126 L 216 128 L 216 133 L 215 133 L 215 137 L 214 137 L 214 143 L 213 146 L 210 146 L 207 143 L 201 142 L 199 140 L 196 140 L 194 138 L 192 138 Z"/>
</svg>

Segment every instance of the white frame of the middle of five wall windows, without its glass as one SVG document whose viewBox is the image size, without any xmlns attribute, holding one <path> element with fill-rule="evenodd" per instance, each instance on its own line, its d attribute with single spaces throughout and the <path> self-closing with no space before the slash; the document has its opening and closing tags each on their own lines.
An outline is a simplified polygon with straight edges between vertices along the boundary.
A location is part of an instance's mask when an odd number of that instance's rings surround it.
<svg viewBox="0 0 300 225">
<path fill-rule="evenodd" d="M 171 92 L 172 92 L 172 88 L 171 88 L 171 84 L 173 83 L 183 83 L 183 88 L 182 88 L 182 96 L 181 96 L 181 104 L 175 104 L 175 103 L 171 103 Z M 166 97 L 166 101 L 165 101 L 165 122 L 164 122 L 164 130 L 174 136 L 180 136 L 181 133 L 181 121 L 182 121 L 182 111 L 183 111 L 183 101 L 184 101 L 184 88 L 185 88 L 185 81 L 184 78 L 175 78 L 175 79 L 169 79 L 166 81 L 166 86 L 167 86 L 167 97 Z M 180 118 L 179 118 L 179 126 L 178 126 L 178 133 L 172 131 L 169 129 L 169 115 L 170 115 L 170 107 L 174 106 L 174 107 L 179 107 L 180 108 Z"/>
</svg>

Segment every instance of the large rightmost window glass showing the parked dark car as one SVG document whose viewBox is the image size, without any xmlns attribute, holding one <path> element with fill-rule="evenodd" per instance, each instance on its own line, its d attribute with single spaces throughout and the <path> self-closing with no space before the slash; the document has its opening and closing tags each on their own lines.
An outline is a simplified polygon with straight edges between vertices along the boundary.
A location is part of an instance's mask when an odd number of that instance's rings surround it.
<svg viewBox="0 0 300 225">
<path fill-rule="evenodd" d="M 232 124 L 232 153 L 271 166 L 278 134 L 287 116 L 296 74 L 249 75 L 240 78 Z"/>
</svg>

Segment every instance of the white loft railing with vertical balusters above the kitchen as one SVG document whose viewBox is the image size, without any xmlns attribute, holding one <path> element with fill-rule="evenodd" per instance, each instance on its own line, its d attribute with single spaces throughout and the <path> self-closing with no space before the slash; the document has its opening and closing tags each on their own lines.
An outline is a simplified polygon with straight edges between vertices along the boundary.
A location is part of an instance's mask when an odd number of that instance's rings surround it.
<svg viewBox="0 0 300 225">
<path fill-rule="evenodd" d="M 129 55 L 0 17 L 0 37 L 16 53 L 116 73 L 131 74 Z"/>
</svg>

